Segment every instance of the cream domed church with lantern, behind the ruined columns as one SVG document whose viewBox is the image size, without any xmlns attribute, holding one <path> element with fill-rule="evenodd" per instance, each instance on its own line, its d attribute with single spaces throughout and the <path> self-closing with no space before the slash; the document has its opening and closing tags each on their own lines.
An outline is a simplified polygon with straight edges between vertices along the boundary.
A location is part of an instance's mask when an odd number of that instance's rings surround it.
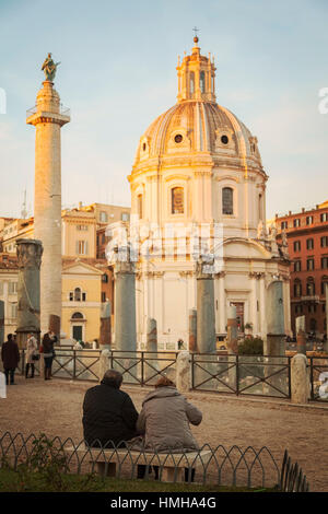
<svg viewBox="0 0 328 514">
<path fill-rule="evenodd" d="M 285 334 L 290 334 L 290 261 L 276 230 L 266 229 L 266 174 L 257 138 L 215 98 L 213 59 L 198 38 L 178 62 L 177 103 L 140 138 L 132 172 L 131 219 L 139 227 L 136 261 L 137 339 L 157 324 L 159 348 L 188 341 L 197 305 L 196 262 L 214 266 L 216 336 L 226 334 L 230 305 L 239 331 L 267 336 L 267 292 L 282 281 Z M 131 231 L 131 227 L 130 227 Z M 207 258 L 207 257 L 206 257 Z"/>
</svg>

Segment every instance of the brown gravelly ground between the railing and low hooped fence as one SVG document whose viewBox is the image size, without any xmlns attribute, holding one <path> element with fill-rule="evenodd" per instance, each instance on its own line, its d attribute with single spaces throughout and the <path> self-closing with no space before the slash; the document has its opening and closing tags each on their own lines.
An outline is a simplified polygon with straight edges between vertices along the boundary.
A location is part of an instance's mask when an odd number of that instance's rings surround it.
<svg viewBox="0 0 328 514">
<path fill-rule="evenodd" d="M 83 439 L 82 402 L 84 393 L 95 383 L 40 378 L 27 381 L 17 375 L 0 399 L 0 433 L 22 432 Z M 138 410 L 149 388 L 122 386 Z M 311 491 L 328 492 L 328 406 L 294 406 L 286 400 L 237 398 L 210 393 L 186 395 L 202 412 L 203 420 L 192 432 L 200 444 L 226 448 L 267 446 L 281 465 L 286 448 L 309 482 Z"/>
</svg>

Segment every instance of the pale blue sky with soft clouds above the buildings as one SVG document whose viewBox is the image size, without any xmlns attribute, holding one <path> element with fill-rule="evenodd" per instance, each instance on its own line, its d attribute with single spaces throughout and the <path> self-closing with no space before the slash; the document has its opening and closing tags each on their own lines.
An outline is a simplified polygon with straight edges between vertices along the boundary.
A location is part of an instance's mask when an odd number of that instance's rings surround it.
<svg viewBox="0 0 328 514">
<path fill-rule="evenodd" d="M 190 52 L 194 26 L 215 58 L 218 103 L 258 138 L 267 218 L 327 200 L 327 22 L 326 0 L 0 0 L 0 217 L 20 217 L 24 190 L 33 214 L 35 128 L 25 118 L 49 51 L 71 109 L 62 206 L 129 206 L 139 139 L 176 103 L 177 58 Z"/>
</svg>

